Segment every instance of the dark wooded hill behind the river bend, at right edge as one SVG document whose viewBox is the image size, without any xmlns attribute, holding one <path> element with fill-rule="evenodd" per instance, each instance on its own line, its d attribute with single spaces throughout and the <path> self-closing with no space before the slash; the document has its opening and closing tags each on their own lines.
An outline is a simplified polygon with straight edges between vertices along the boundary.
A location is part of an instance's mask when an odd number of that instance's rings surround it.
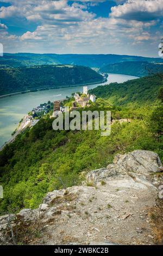
<svg viewBox="0 0 163 256">
<path fill-rule="evenodd" d="M 163 72 L 163 63 L 149 63 L 146 61 L 130 61 L 109 64 L 100 69 L 101 72 L 125 75 L 146 76 Z"/>
</svg>

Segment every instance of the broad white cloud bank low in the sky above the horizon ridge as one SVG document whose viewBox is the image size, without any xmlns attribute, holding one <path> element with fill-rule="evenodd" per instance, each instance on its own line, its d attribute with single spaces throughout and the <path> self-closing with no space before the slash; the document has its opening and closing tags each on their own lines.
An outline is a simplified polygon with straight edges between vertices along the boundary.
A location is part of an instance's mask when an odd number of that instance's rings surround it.
<svg viewBox="0 0 163 256">
<path fill-rule="evenodd" d="M 115 45 L 122 51 L 124 42 L 126 47 L 129 47 L 133 42 L 138 43 L 150 39 L 150 34 L 143 32 L 146 26 L 143 22 L 100 17 L 77 22 L 71 26 L 38 26 L 34 32 L 28 31 L 20 39 L 33 42 L 39 40 L 41 43 L 46 41 L 54 49 L 64 45 L 65 52 L 77 52 L 78 50 L 81 53 L 84 47 L 90 51 L 101 52 L 102 49 L 112 49 Z"/>
</svg>

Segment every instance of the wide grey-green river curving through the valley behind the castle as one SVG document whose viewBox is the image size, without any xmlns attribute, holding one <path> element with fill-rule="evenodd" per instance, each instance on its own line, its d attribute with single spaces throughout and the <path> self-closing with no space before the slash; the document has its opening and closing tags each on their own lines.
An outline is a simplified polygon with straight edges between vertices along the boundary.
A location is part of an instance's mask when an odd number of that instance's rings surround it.
<svg viewBox="0 0 163 256">
<path fill-rule="evenodd" d="M 109 74 L 108 81 L 103 84 L 88 85 L 88 89 L 95 88 L 99 85 L 110 84 L 110 82 L 125 82 L 135 79 L 136 76 Z M 51 100 L 65 99 L 66 96 L 71 96 L 73 92 L 83 91 L 83 86 L 65 87 L 52 89 L 47 91 L 29 92 L 18 94 L 0 99 L 0 147 L 5 141 L 11 138 L 11 133 L 16 129 L 18 122 L 30 110 L 40 105 L 41 103 Z"/>
</svg>

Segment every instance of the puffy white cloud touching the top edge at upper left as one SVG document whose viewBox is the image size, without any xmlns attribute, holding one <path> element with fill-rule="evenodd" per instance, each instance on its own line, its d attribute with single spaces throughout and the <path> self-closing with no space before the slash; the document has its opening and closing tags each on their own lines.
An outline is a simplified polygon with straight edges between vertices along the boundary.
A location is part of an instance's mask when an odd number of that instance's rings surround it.
<svg viewBox="0 0 163 256">
<path fill-rule="evenodd" d="M 16 5 L 0 8 L 0 18 L 26 17 L 29 21 L 83 21 L 90 20 L 94 14 L 83 11 L 80 6 L 70 6 L 66 0 L 55 1 L 11 1 Z"/>
</svg>

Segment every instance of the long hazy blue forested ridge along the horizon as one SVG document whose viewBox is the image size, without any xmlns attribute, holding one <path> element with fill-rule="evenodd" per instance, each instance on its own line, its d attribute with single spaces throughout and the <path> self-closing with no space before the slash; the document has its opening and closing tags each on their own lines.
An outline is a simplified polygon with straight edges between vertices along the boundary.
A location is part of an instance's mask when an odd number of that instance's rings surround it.
<svg viewBox="0 0 163 256">
<path fill-rule="evenodd" d="M 141 56 L 115 55 L 115 54 L 37 54 L 37 53 L 4 53 L 0 58 L 0 67 L 30 67 L 37 65 L 72 64 L 90 68 L 102 68 L 108 64 L 146 61 L 162 63 L 162 58 L 149 58 Z"/>
</svg>

